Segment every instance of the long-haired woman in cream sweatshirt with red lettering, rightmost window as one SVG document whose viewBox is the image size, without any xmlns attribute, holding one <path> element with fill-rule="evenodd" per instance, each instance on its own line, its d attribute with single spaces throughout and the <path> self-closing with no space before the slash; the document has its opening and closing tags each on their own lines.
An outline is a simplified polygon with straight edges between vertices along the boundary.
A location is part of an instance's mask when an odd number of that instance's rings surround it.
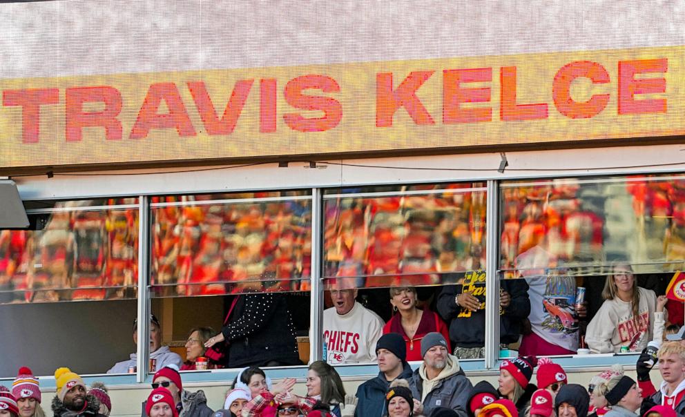
<svg viewBox="0 0 685 417">
<path fill-rule="evenodd" d="M 666 297 L 637 287 L 633 269 L 618 264 L 606 278 L 604 304 L 588 324 L 585 341 L 596 353 L 618 353 L 621 347 L 642 351 L 650 340 L 661 340 Z"/>
</svg>

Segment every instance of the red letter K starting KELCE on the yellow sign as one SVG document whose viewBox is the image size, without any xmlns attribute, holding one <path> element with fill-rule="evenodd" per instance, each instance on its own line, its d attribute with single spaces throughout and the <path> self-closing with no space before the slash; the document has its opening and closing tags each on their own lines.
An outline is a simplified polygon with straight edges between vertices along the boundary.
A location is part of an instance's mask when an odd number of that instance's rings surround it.
<svg viewBox="0 0 685 417">
<path fill-rule="evenodd" d="M 392 116 L 401 106 L 407 109 L 414 123 L 435 124 L 433 117 L 416 97 L 416 90 L 433 72 L 435 71 L 412 71 L 397 90 L 392 89 L 392 72 L 376 74 L 376 127 L 391 127 Z"/>
</svg>

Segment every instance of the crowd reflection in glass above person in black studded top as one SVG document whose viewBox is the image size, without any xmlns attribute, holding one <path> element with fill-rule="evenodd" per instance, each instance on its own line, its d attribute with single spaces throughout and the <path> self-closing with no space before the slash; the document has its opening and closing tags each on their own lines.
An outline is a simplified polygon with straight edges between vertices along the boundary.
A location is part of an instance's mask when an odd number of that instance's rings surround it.
<svg viewBox="0 0 685 417">
<path fill-rule="evenodd" d="M 293 193 L 155 197 L 155 295 L 309 291 L 311 198 Z"/>
</svg>

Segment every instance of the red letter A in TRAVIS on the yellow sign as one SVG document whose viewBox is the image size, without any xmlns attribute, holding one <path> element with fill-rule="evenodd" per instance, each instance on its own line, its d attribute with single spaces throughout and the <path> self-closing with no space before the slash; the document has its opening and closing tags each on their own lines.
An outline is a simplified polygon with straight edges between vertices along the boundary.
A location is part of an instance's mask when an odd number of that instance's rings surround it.
<svg viewBox="0 0 685 417">
<path fill-rule="evenodd" d="M 158 115 L 157 110 L 160 109 L 162 100 L 166 101 L 169 113 Z M 176 84 L 152 84 L 131 129 L 131 139 L 143 139 L 150 129 L 168 128 L 176 128 L 181 137 L 196 135 L 193 122 L 186 112 L 186 106 L 183 104 Z"/>
</svg>

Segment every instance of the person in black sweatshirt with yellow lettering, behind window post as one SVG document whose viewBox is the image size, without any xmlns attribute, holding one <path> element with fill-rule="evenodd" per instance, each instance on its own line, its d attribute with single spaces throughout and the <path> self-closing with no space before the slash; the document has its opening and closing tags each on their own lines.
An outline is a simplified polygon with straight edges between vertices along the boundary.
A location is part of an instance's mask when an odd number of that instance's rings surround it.
<svg viewBox="0 0 685 417">
<path fill-rule="evenodd" d="M 499 340 L 517 342 L 521 323 L 530 314 L 525 280 L 501 281 Z M 438 312 L 450 322 L 454 355 L 460 359 L 485 357 L 485 273 L 467 274 L 457 285 L 447 285 L 438 295 Z"/>
</svg>

